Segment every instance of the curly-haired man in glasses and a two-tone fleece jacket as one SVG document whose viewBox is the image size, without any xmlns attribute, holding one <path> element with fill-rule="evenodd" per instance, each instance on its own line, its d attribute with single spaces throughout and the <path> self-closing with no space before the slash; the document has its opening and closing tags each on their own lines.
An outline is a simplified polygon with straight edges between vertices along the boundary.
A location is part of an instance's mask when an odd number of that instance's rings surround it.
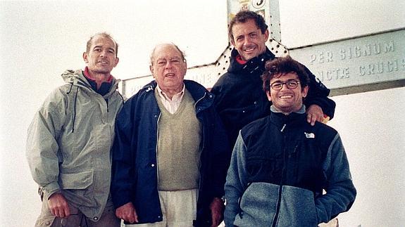
<svg viewBox="0 0 405 227">
<path fill-rule="evenodd" d="M 317 226 L 356 197 L 335 129 L 306 121 L 304 67 L 289 56 L 266 63 L 270 115 L 239 133 L 225 183 L 226 226 Z M 323 194 L 325 190 L 325 194 Z"/>
</svg>

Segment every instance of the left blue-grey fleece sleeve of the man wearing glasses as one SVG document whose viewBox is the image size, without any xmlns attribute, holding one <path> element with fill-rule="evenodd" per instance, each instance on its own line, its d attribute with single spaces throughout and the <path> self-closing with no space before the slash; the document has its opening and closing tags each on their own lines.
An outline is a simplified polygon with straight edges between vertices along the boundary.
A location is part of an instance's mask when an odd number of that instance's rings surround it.
<svg viewBox="0 0 405 227">
<path fill-rule="evenodd" d="M 244 192 L 244 187 L 247 186 L 247 171 L 246 171 L 246 146 L 239 132 L 239 136 L 232 151 L 230 167 L 225 183 L 225 226 L 233 226 L 235 216 L 239 214 L 239 198 Z"/>
</svg>

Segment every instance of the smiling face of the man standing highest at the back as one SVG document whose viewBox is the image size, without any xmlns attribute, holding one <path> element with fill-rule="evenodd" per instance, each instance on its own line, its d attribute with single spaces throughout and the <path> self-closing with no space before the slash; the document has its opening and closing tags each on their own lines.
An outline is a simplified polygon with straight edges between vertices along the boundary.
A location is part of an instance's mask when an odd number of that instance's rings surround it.
<svg viewBox="0 0 405 227">
<path fill-rule="evenodd" d="M 232 37 L 231 43 L 243 60 L 250 60 L 266 51 L 268 30 L 263 34 L 252 19 L 233 25 Z"/>
</svg>

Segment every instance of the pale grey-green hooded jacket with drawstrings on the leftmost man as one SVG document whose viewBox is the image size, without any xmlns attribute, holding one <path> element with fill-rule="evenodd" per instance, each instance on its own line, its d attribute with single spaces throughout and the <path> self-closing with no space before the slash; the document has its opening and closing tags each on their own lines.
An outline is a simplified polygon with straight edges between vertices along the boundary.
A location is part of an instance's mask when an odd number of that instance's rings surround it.
<svg viewBox="0 0 405 227">
<path fill-rule="evenodd" d="M 27 160 L 44 200 L 61 192 L 96 220 L 110 191 L 110 150 L 123 97 L 116 91 L 117 79 L 101 96 L 82 70 L 67 70 L 62 77 L 66 84 L 46 98 L 28 128 Z"/>
</svg>

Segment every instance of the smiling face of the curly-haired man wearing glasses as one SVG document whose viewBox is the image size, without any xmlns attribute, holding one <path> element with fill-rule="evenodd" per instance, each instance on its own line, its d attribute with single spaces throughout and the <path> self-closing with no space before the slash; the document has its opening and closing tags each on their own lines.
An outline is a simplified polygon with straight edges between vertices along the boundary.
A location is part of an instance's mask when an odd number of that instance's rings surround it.
<svg viewBox="0 0 405 227">
<path fill-rule="evenodd" d="M 268 100 L 273 103 L 273 106 L 285 115 L 299 110 L 302 106 L 302 98 L 305 98 L 308 93 L 308 86 L 302 89 L 300 83 L 295 89 L 289 89 L 287 84 L 282 84 L 280 90 L 275 90 L 271 86 L 273 83 L 286 83 L 287 81 L 299 82 L 297 73 L 275 74 L 270 79 L 270 90 L 266 93 Z"/>
</svg>

